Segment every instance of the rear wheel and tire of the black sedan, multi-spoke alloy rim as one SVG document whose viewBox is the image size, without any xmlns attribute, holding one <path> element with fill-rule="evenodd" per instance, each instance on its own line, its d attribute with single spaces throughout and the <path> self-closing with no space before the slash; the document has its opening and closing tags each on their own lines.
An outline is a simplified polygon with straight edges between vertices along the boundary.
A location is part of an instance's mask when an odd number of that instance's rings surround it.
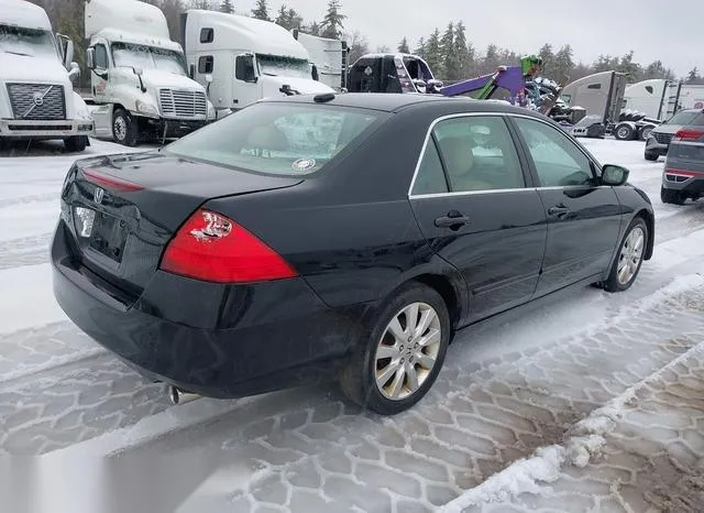
<svg viewBox="0 0 704 513">
<path fill-rule="evenodd" d="M 410 408 L 438 378 L 450 331 L 450 315 L 440 294 L 419 283 L 404 285 L 365 330 L 340 375 L 342 391 L 382 415 Z"/>
</svg>

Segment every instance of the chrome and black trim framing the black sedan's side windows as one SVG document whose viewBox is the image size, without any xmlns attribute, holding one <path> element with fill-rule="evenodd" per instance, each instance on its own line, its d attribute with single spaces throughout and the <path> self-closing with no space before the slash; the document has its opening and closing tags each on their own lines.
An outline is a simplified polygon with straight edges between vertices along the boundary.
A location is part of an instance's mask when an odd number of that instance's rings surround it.
<svg viewBox="0 0 704 513">
<path fill-rule="evenodd" d="M 510 133 L 510 137 L 514 141 L 514 144 L 516 144 L 516 151 L 518 153 L 518 161 L 521 165 L 522 168 L 522 173 L 524 173 L 524 177 L 526 177 L 526 187 L 521 187 L 521 188 L 510 188 L 510 189 L 490 189 L 490 190 L 466 190 L 466 192 L 458 192 L 458 193 L 435 193 L 435 194 L 413 194 L 414 190 L 414 185 L 416 184 L 416 178 L 418 177 L 418 171 L 420 170 L 420 164 L 422 162 L 422 157 L 426 154 L 426 149 L 428 148 L 428 141 L 430 140 L 431 135 L 432 135 L 432 131 L 436 128 L 436 124 L 438 124 L 440 121 L 444 121 L 447 119 L 454 119 L 454 118 L 469 118 L 469 117 L 477 117 L 477 116 L 482 116 L 482 117 L 486 117 L 486 116 L 499 116 L 502 118 L 504 118 L 506 125 L 508 128 L 508 131 Z M 553 130 L 559 130 L 558 128 L 556 128 L 552 123 L 540 119 L 538 117 L 535 116 L 529 116 L 529 114 L 524 114 L 524 113 L 519 113 L 519 112 L 497 112 L 497 111 L 492 111 L 492 112 L 455 112 L 452 114 L 444 114 L 444 116 L 440 116 L 439 118 L 436 118 L 432 123 L 430 123 L 430 127 L 428 127 L 428 130 L 426 131 L 426 137 L 422 143 L 422 146 L 420 149 L 420 154 L 418 155 L 418 160 L 416 162 L 416 168 L 414 170 L 414 175 L 410 179 L 410 185 L 408 187 L 408 192 L 407 192 L 407 197 L 408 199 L 429 199 L 429 198 L 442 198 L 442 197 L 452 197 L 452 196 L 473 196 L 473 195 L 477 195 L 477 194 L 506 194 L 506 193 L 519 193 L 519 192 L 538 192 L 538 190 L 564 190 L 564 189 L 583 189 L 585 186 L 584 185 L 565 185 L 565 186 L 550 186 L 550 187 L 542 187 L 540 185 L 540 181 L 537 177 L 536 174 L 536 170 L 532 164 L 532 159 L 528 159 L 528 155 L 526 155 L 526 143 L 522 139 L 522 135 L 520 134 L 520 132 L 518 131 L 518 127 L 516 125 L 516 123 L 513 122 L 513 118 L 526 118 L 526 119 L 531 119 L 534 121 L 537 121 L 539 123 L 543 123 L 547 124 L 548 127 L 550 127 Z M 569 138 L 569 134 L 565 133 L 565 135 Z M 602 172 L 602 165 L 598 163 L 598 161 L 592 155 L 590 154 L 585 149 L 583 149 L 579 143 L 574 143 L 572 142 L 572 144 L 574 144 L 574 146 L 586 157 L 586 160 L 590 162 L 590 164 L 592 164 L 593 170 L 592 173 L 594 175 L 595 178 L 600 178 L 601 177 L 601 172 Z M 524 167 L 527 166 L 527 170 Z M 526 171 L 528 171 L 528 176 L 526 176 Z M 528 178 L 530 178 L 530 185 L 528 184 Z M 537 182 L 536 182 L 537 181 Z M 610 188 L 612 186 L 609 185 L 594 185 L 592 186 L 593 188 Z"/>
</svg>

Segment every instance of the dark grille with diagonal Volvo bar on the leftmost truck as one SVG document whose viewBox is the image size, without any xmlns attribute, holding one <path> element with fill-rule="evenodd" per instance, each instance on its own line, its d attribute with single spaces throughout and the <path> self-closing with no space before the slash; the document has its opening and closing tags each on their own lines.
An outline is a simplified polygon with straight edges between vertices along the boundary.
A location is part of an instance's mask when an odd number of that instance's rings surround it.
<svg viewBox="0 0 704 513">
<path fill-rule="evenodd" d="M 8 84 L 14 119 L 66 119 L 64 86 L 52 84 Z"/>
</svg>

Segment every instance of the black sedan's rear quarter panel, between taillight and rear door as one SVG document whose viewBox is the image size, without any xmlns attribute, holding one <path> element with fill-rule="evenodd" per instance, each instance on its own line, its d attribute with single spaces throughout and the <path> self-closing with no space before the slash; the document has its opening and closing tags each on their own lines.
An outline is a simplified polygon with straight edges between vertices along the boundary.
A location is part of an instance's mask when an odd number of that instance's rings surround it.
<svg viewBox="0 0 704 513">
<path fill-rule="evenodd" d="M 424 274 L 446 276 L 461 301 L 461 275 L 430 250 L 407 198 L 437 109 L 416 113 L 393 116 L 344 161 L 296 187 L 207 207 L 275 249 L 329 306 L 377 302 Z"/>
</svg>

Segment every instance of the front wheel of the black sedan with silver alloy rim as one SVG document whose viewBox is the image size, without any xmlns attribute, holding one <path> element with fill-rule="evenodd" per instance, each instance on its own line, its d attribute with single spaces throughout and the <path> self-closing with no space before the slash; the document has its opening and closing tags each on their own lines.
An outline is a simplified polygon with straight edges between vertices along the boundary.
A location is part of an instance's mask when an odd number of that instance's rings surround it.
<svg viewBox="0 0 704 513">
<path fill-rule="evenodd" d="M 618 256 L 614 261 L 604 282 L 604 288 L 608 292 L 623 292 L 634 284 L 648 248 L 648 225 L 642 217 L 635 218 L 620 242 Z"/>
</svg>

